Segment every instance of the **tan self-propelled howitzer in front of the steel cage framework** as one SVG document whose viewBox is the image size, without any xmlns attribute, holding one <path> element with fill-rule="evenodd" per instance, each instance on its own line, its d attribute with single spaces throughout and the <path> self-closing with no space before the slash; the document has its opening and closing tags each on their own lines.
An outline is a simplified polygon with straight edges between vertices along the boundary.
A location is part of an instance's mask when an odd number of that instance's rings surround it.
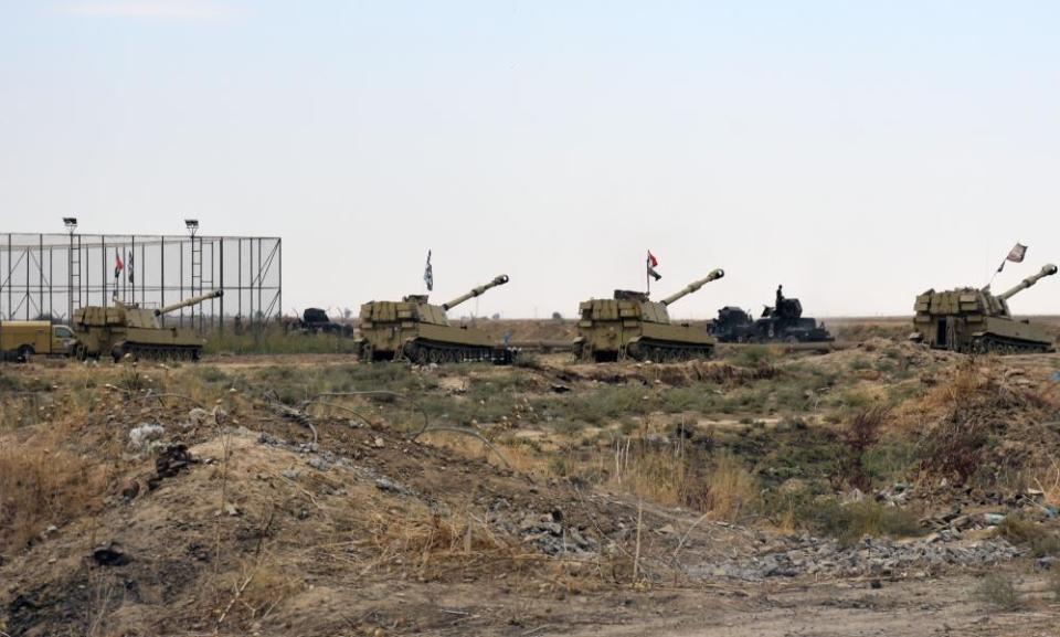
<svg viewBox="0 0 1060 637">
<path fill-rule="evenodd" d="M 158 309 L 116 300 L 113 307 L 88 306 L 74 311 L 77 358 L 109 354 L 115 362 L 126 354 L 136 359 L 199 360 L 205 341 L 192 329 L 163 327 L 159 318 L 182 307 L 218 298 L 223 290 L 191 297 Z"/>
</svg>

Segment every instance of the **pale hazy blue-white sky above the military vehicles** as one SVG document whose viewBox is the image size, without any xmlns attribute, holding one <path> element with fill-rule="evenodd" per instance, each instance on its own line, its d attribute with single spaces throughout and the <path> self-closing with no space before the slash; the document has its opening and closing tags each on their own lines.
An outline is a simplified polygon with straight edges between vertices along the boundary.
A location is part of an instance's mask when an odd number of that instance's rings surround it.
<svg viewBox="0 0 1060 637">
<path fill-rule="evenodd" d="M 1058 2 L 0 0 L 0 232 L 284 238 L 285 310 L 910 314 L 1060 261 Z M 469 306 L 473 304 L 469 304 Z M 1014 299 L 1060 312 L 1060 277 Z M 471 307 L 470 309 L 475 309 Z"/>
</svg>

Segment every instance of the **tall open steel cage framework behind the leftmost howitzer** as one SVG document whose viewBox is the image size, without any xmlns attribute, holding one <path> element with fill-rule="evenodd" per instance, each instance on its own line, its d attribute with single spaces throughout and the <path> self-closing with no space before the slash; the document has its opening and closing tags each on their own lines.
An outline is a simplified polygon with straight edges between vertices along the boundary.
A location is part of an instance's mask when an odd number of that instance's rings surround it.
<svg viewBox="0 0 1060 637">
<path fill-rule="evenodd" d="M 120 263 L 119 263 L 120 262 Z M 0 233 L 0 318 L 68 321 L 115 299 L 161 307 L 223 289 L 169 315 L 180 325 L 262 326 L 283 307 L 283 251 L 275 236 Z"/>
</svg>

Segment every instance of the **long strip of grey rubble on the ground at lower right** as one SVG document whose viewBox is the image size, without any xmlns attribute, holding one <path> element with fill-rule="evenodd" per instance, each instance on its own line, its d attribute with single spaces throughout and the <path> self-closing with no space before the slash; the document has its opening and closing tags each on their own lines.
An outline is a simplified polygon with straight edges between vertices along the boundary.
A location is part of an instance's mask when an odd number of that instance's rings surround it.
<svg viewBox="0 0 1060 637">
<path fill-rule="evenodd" d="M 942 534 L 904 541 L 866 537 L 857 544 L 844 546 L 836 540 L 804 535 L 796 548 L 787 551 L 700 564 L 687 570 L 692 575 L 749 582 L 803 575 L 902 576 L 945 566 L 987 566 L 1020 554 L 1019 549 L 999 538 L 964 543 Z"/>
</svg>

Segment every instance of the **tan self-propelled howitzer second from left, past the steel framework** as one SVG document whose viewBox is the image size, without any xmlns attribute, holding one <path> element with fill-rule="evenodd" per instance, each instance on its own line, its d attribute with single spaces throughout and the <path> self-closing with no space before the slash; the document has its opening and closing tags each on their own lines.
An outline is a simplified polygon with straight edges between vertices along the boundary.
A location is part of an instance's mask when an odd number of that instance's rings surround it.
<svg viewBox="0 0 1060 637">
<path fill-rule="evenodd" d="M 400 301 L 373 300 L 361 306 L 358 354 L 362 361 L 409 360 L 415 363 L 488 361 L 510 363 L 513 351 L 495 343 L 486 333 L 449 325 L 446 311 L 486 290 L 508 283 L 500 275 L 486 285 L 442 304 L 431 305 L 427 295 L 410 295 Z"/>
</svg>

